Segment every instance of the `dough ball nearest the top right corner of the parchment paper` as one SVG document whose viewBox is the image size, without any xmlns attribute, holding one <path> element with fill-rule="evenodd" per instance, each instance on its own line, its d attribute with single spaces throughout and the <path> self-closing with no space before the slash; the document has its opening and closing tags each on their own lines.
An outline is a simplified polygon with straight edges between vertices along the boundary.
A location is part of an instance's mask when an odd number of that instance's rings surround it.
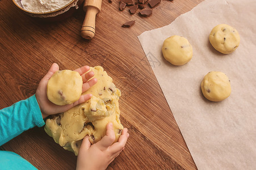
<svg viewBox="0 0 256 170">
<path fill-rule="evenodd" d="M 240 44 L 240 36 L 237 30 L 230 25 L 219 24 L 212 29 L 209 41 L 217 51 L 229 54 L 237 49 Z"/>
</svg>

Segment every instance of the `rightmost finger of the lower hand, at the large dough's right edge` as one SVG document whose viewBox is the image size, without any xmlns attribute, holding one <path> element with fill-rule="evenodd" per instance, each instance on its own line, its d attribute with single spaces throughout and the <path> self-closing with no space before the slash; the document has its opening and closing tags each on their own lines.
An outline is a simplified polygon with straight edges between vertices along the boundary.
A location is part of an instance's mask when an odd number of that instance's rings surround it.
<svg viewBox="0 0 256 170">
<path fill-rule="evenodd" d="M 112 153 L 120 153 L 123 149 L 124 149 L 124 146 L 127 142 L 127 139 L 129 137 L 129 134 L 127 133 L 128 129 L 127 128 L 124 128 L 123 131 L 122 131 L 122 134 L 120 135 L 119 137 L 119 140 L 118 142 L 114 143 L 110 150 Z"/>
</svg>

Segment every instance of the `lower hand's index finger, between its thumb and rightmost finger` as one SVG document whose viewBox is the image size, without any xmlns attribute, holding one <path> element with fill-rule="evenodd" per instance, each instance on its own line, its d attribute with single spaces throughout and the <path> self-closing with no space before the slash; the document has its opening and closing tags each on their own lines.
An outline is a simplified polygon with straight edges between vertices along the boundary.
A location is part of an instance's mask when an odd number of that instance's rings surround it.
<svg viewBox="0 0 256 170">
<path fill-rule="evenodd" d="M 106 150 L 106 148 L 112 145 L 115 139 L 116 135 L 113 129 L 113 124 L 110 122 L 107 124 L 106 135 L 96 144 L 99 145 L 100 150 Z"/>
</svg>

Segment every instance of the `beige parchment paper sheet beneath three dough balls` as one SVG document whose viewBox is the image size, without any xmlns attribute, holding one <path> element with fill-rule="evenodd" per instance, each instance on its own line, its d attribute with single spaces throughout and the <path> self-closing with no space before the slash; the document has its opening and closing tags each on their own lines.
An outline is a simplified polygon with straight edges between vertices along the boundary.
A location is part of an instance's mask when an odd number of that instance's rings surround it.
<svg viewBox="0 0 256 170">
<path fill-rule="evenodd" d="M 256 169 L 256 1 L 205 0 L 173 23 L 139 36 L 141 46 L 174 114 L 198 169 Z M 217 24 L 240 33 L 240 46 L 221 54 L 209 43 Z M 165 61 L 161 47 L 173 35 L 186 37 L 193 57 L 183 66 Z M 204 98 L 200 83 L 222 71 L 231 95 L 221 102 Z"/>
</svg>

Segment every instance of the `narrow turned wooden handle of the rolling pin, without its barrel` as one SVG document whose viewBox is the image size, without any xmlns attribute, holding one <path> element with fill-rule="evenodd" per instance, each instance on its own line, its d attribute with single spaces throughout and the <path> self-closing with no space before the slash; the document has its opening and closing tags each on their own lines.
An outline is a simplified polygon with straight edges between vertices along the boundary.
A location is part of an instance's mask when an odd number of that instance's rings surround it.
<svg viewBox="0 0 256 170">
<path fill-rule="evenodd" d="M 95 35 L 95 19 L 96 14 L 99 13 L 99 8 L 95 6 L 87 6 L 85 20 L 83 21 L 81 36 L 84 39 L 93 39 Z"/>
</svg>

